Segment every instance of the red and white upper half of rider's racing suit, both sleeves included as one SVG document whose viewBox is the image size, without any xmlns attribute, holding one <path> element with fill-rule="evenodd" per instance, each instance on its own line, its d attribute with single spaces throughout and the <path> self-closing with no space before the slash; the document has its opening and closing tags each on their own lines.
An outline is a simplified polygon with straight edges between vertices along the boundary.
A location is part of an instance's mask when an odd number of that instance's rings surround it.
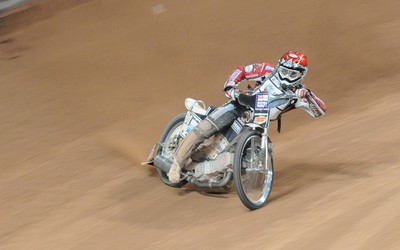
<svg viewBox="0 0 400 250">
<path fill-rule="evenodd" d="M 269 63 L 255 63 L 237 67 L 225 82 L 224 91 L 226 97 L 234 99 L 232 96 L 234 89 L 237 88 L 241 82 L 245 81 L 263 82 L 261 85 L 257 85 L 256 88 L 274 95 L 283 94 L 286 91 L 294 93 L 294 90 L 285 90 L 281 86 L 279 79 L 275 75 L 271 75 L 274 70 L 275 66 Z M 305 88 L 305 85 L 302 84 L 297 87 L 297 89 L 299 88 Z M 314 118 L 320 117 L 326 112 L 326 105 L 324 102 L 309 90 L 309 95 L 307 95 L 306 98 L 298 99 L 293 105 L 286 103 L 271 109 L 271 120 L 275 120 L 282 112 L 294 108 L 301 108 Z"/>
</svg>

